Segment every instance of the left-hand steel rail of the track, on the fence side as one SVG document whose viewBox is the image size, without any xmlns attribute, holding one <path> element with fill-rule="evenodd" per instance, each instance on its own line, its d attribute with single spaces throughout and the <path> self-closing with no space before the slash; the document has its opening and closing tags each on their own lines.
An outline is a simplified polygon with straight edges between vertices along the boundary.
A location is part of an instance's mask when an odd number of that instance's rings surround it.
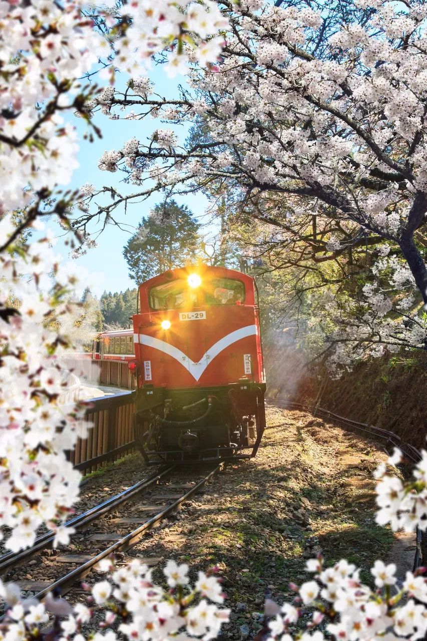
<svg viewBox="0 0 427 641">
<path fill-rule="evenodd" d="M 138 483 L 135 483 L 135 485 L 131 485 L 131 487 L 123 490 L 123 492 L 121 492 L 120 494 L 116 494 L 115 496 L 110 497 L 110 499 L 106 499 L 106 501 L 104 501 L 103 503 L 99 503 L 93 508 L 90 508 L 90 510 L 87 510 L 87 512 L 83 512 L 73 519 L 68 520 L 64 525 L 75 528 L 83 527 L 87 523 L 92 522 L 92 520 L 98 519 L 106 512 L 109 512 L 110 510 L 115 508 L 115 506 L 124 503 L 124 501 L 128 501 L 135 494 L 139 494 L 139 492 L 146 490 L 152 485 L 156 485 L 158 481 L 160 481 L 160 479 L 162 479 L 164 476 L 167 476 L 167 474 L 170 474 L 174 467 L 175 465 L 169 465 L 166 469 L 163 469 L 160 472 L 153 472 L 153 474 L 150 474 L 146 479 L 138 481 Z M 31 545 L 31 547 L 28 547 L 27 549 L 22 550 L 18 553 L 10 552 L 3 554 L 3 556 L 0 556 L 0 572 L 4 572 L 10 569 L 10 567 L 17 565 L 17 563 L 20 563 L 29 556 L 33 556 L 33 554 L 35 554 L 39 550 L 53 544 L 53 540 L 54 534 L 46 532 L 46 534 L 38 537 L 35 540 L 34 544 Z"/>
</svg>

